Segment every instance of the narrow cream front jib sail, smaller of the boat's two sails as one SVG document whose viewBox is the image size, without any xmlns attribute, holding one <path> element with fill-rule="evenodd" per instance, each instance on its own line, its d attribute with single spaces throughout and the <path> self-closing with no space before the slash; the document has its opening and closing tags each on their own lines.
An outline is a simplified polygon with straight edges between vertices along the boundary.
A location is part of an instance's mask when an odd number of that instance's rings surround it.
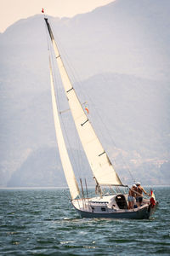
<svg viewBox="0 0 170 256">
<path fill-rule="evenodd" d="M 59 111 L 57 108 L 57 102 L 56 102 L 55 91 L 54 91 L 54 79 L 53 79 L 50 59 L 49 59 L 49 67 L 50 67 L 51 95 L 52 95 L 52 103 L 53 103 L 53 111 L 54 111 L 54 125 L 55 125 L 58 148 L 59 148 L 59 155 L 60 155 L 60 160 L 65 172 L 66 182 L 70 189 L 71 198 L 75 199 L 77 195 L 80 194 L 80 192 L 78 189 L 76 177 L 72 170 L 71 161 L 69 159 L 69 155 L 65 147 L 65 140 L 61 130 L 61 125 L 59 121 Z"/>
</svg>

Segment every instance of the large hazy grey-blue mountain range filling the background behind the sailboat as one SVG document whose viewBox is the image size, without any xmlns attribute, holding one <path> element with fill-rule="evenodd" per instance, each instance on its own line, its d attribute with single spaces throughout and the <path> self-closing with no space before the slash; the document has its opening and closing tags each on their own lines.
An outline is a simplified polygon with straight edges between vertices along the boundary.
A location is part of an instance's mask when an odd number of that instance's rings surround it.
<svg viewBox="0 0 170 256">
<path fill-rule="evenodd" d="M 168 0 L 116 0 L 71 19 L 48 17 L 71 80 L 125 181 L 122 158 L 141 182 L 168 183 L 169 8 Z M 0 37 L 0 186 L 38 185 L 38 177 L 39 185 L 64 183 L 54 172 L 58 151 L 43 17 L 19 20 Z M 69 114 L 64 119 L 70 121 Z M 69 148 L 77 150 L 77 143 Z"/>
</svg>

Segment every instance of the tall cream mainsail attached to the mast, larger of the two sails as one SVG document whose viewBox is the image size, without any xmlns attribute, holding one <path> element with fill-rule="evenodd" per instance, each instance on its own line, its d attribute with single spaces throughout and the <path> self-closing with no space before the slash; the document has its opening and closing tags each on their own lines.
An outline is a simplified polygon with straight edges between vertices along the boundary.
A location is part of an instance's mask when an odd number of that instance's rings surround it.
<svg viewBox="0 0 170 256">
<path fill-rule="evenodd" d="M 72 87 L 71 81 L 66 73 L 65 66 L 59 55 L 57 44 L 54 41 L 54 35 L 48 24 L 48 19 L 45 19 L 52 44 L 54 46 L 55 56 L 58 62 L 59 73 L 65 88 L 65 94 L 71 108 L 72 117 L 75 121 L 78 135 L 82 142 L 82 147 L 87 155 L 89 165 L 91 166 L 94 177 L 99 184 L 105 185 L 122 185 L 122 182 L 116 174 L 111 161 L 109 160 L 105 149 L 99 142 L 88 117 L 84 113 L 81 103 L 77 98 L 77 94 Z"/>
</svg>

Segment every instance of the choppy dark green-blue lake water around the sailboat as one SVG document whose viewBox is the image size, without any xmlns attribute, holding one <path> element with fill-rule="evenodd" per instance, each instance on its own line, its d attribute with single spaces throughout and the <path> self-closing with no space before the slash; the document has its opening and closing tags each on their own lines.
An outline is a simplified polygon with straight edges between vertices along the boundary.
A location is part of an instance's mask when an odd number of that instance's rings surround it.
<svg viewBox="0 0 170 256">
<path fill-rule="evenodd" d="M 0 255 L 170 254 L 170 188 L 153 218 L 79 218 L 65 189 L 0 189 Z M 68 195 L 68 192 L 66 192 Z"/>
</svg>

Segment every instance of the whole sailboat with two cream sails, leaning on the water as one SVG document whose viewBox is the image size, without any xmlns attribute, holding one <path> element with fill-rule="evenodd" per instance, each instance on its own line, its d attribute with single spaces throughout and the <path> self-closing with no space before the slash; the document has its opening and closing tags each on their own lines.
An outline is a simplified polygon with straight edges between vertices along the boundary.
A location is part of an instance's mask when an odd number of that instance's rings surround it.
<svg viewBox="0 0 170 256">
<path fill-rule="evenodd" d="M 65 138 L 59 119 L 59 108 L 56 102 L 54 90 L 54 74 L 52 70 L 51 59 L 49 56 L 49 70 L 51 81 L 52 104 L 54 111 L 54 126 L 56 138 L 59 148 L 59 156 L 65 172 L 65 179 L 70 189 L 71 203 L 82 218 L 150 218 L 156 211 L 157 202 L 155 200 L 144 199 L 142 205 L 135 207 L 135 198 L 133 199 L 133 209 L 127 207 L 128 186 L 124 185 L 116 173 L 109 156 L 99 141 L 94 128 L 88 119 L 88 115 L 82 108 L 82 103 L 77 97 L 77 93 L 71 84 L 71 79 L 65 69 L 59 53 L 59 48 L 54 40 L 54 33 L 48 22 L 48 18 L 44 17 L 48 38 L 54 48 L 55 59 L 58 64 L 60 78 L 68 99 L 72 118 L 75 122 L 77 133 L 82 143 L 82 148 L 87 156 L 87 160 L 91 171 L 93 172 L 96 195 L 90 197 L 88 195 L 88 186 L 85 189 L 77 183 L 77 178 L 71 165 L 71 160 L 65 146 Z M 80 186 L 80 189 L 79 189 Z M 104 187 L 110 189 L 105 194 Z M 115 188 L 115 189 L 114 189 Z"/>
</svg>

